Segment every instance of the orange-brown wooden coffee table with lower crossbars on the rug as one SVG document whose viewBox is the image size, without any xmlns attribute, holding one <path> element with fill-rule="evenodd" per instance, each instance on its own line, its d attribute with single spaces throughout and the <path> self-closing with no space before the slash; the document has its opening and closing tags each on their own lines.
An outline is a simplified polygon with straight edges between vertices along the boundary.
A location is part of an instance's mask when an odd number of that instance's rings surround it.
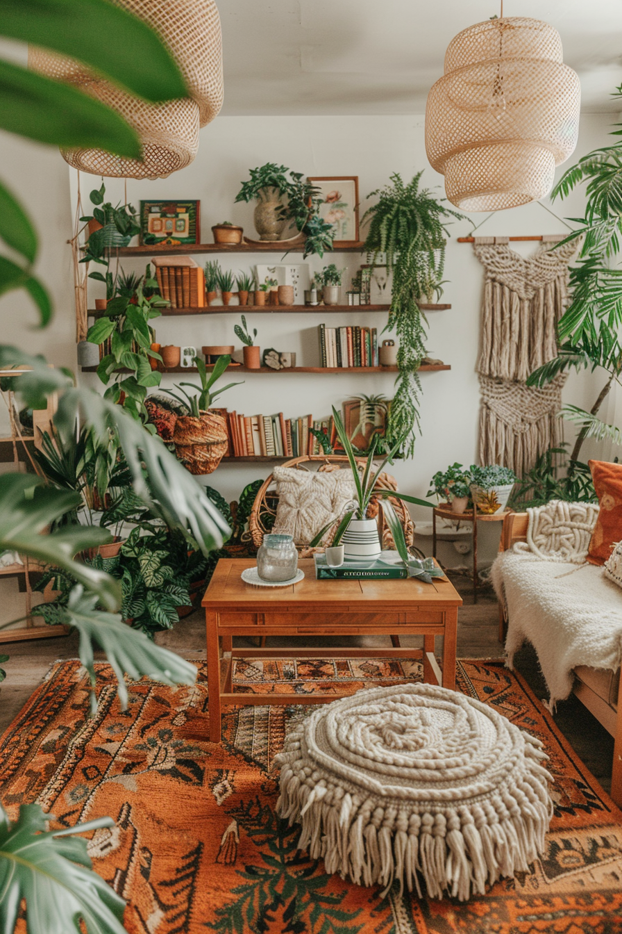
<svg viewBox="0 0 622 934">
<path fill-rule="evenodd" d="M 341 692 L 236 694 L 235 658 L 422 658 L 423 680 L 456 686 L 456 630 L 460 595 L 447 578 L 316 580 L 312 559 L 298 567 L 305 578 L 289 587 L 253 587 L 242 581 L 253 559 L 220 559 L 202 605 L 207 629 L 210 741 L 220 743 L 221 713 L 231 704 L 335 701 Z M 423 648 L 233 648 L 233 636 L 422 635 Z M 442 672 L 435 637 L 444 636 Z M 399 642 L 399 640 L 397 640 Z"/>
</svg>

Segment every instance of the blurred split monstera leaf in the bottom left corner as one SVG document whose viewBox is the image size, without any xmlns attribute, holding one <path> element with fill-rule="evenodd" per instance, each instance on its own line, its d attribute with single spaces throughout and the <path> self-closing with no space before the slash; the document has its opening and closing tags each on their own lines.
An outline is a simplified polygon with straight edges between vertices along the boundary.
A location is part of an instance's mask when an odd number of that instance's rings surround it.
<svg viewBox="0 0 622 934">
<path fill-rule="evenodd" d="M 90 869 L 87 841 L 68 834 L 114 827 L 110 817 L 46 831 L 38 804 L 22 804 L 11 826 L 0 808 L 0 930 L 12 934 L 21 899 L 28 934 L 126 934 L 125 901 Z"/>
</svg>

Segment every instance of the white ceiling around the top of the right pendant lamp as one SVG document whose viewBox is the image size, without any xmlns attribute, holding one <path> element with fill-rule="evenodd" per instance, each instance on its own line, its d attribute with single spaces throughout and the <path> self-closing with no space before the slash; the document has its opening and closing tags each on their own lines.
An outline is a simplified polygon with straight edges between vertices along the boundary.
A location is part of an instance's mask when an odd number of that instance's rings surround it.
<svg viewBox="0 0 622 934">
<path fill-rule="evenodd" d="M 217 0 L 223 115 L 421 114 L 451 38 L 500 0 Z M 622 0 L 505 0 L 546 20 L 581 79 L 583 109 L 620 111 Z"/>
</svg>

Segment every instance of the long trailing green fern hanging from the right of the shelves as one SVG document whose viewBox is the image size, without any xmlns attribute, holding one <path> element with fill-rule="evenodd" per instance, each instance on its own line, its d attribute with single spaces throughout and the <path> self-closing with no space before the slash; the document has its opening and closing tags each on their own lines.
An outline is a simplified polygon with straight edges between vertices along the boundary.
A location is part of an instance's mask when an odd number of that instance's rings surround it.
<svg viewBox="0 0 622 934">
<path fill-rule="evenodd" d="M 405 185 L 398 172 L 391 184 L 367 195 L 378 195 L 369 207 L 365 249 L 372 254 L 372 264 L 393 272 L 393 296 L 387 330 L 399 338 L 397 365 L 399 375 L 391 405 L 387 435 L 404 437 L 404 454 L 412 455 L 415 430 L 419 427 L 419 398 L 422 391 L 417 373 L 425 356 L 425 317 L 422 302 L 432 302 L 443 293 L 445 244 L 450 218 L 464 215 L 446 207 L 429 191 L 419 187 L 422 172 Z M 444 199 L 443 199 L 444 200 Z"/>
</svg>

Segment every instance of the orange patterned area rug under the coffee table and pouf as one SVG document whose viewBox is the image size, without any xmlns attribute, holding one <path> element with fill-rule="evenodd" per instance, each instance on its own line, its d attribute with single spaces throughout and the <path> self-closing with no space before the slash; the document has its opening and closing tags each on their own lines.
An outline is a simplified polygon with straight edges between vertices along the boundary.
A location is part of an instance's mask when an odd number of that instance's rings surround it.
<svg viewBox="0 0 622 934">
<path fill-rule="evenodd" d="M 402 667 L 402 666 L 406 667 Z M 2 800 L 12 817 L 39 801 L 54 825 L 109 814 L 116 827 L 90 841 L 94 868 L 128 901 L 130 934 L 614 934 L 622 930 L 622 814 L 602 791 L 522 679 L 490 662 L 461 661 L 459 689 L 494 706 L 545 743 L 555 777 L 546 853 L 529 873 L 466 904 L 384 898 L 297 852 L 297 829 L 274 814 L 273 758 L 292 717 L 306 707 L 236 707 L 222 746 L 184 732 L 207 709 L 204 664 L 194 688 L 147 680 L 119 710 L 110 667 L 98 664 L 92 719 L 88 681 L 76 661 L 57 663 L 0 748 Z M 352 690 L 421 676 L 385 659 L 253 662 L 238 666 L 242 690 L 266 679 L 300 693 Z"/>
</svg>

